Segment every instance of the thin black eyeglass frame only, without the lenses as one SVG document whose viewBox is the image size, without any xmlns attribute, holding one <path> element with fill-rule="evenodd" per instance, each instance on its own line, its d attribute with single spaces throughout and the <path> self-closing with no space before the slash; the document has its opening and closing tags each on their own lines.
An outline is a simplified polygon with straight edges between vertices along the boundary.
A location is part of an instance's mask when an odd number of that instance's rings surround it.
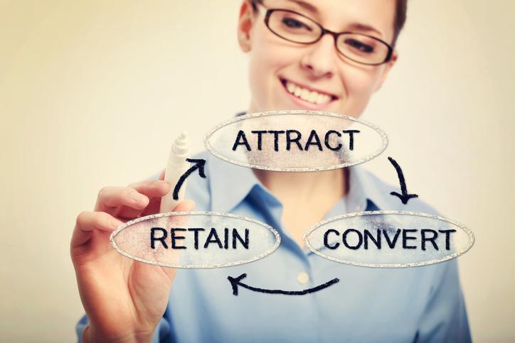
<svg viewBox="0 0 515 343">
<path fill-rule="evenodd" d="M 313 44 L 313 43 L 317 43 L 319 40 L 322 39 L 322 37 L 324 37 L 324 35 L 326 34 L 329 34 L 331 36 L 333 36 L 334 38 L 334 48 L 336 48 L 336 50 L 342 55 L 344 56 L 345 58 L 349 58 L 349 60 L 352 60 L 356 63 L 360 63 L 362 65 L 382 65 L 386 62 L 388 62 L 389 60 L 391 60 L 392 58 L 392 55 L 393 55 L 393 48 L 391 47 L 390 44 L 386 43 L 384 40 L 381 40 L 377 37 L 374 37 L 374 36 L 370 36 L 370 35 L 366 35 L 365 33 L 356 33 L 356 32 L 351 32 L 351 31 L 344 31 L 344 32 L 339 32 L 339 33 L 336 33 L 334 31 L 331 31 L 331 30 L 327 30 L 326 28 L 324 28 L 322 25 L 320 25 L 319 23 L 317 23 L 316 21 L 314 21 L 312 18 L 309 18 L 309 16 L 304 16 L 304 14 L 302 13 L 298 13 L 298 12 L 295 12 L 295 11 L 291 11 L 289 9 L 267 9 L 263 4 L 260 4 L 260 2 L 254 2 L 254 4 L 259 4 L 261 6 L 263 6 L 267 11 L 265 13 L 265 25 L 267 26 L 267 28 L 275 34 L 275 36 L 277 37 L 280 37 L 284 40 L 287 40 L 289 42 L 292 42 L 292 43 L 298 43 L 298 44 Z M 296 40 L 291 40 L 291 39 L 288 39 L 288 38 L 285 38 L 283 36 L 281 36 L 279 33 L 275 32 L 272 30 L 272 28 L 270 28 L 270 25 L 269 25 L 269 21 L 270 21 L 270 16 L 272 15 L 273 12 L 275 11 L 283 11 L 283 12 L 290 12 L 290 13 L 294 13 L 296 14 L 297 16 L 302 16 L 304 18 L 307 18 L 309 19 L 309 21 L 312 21 L 314 24 L 316 24 L 322 31 L 320 33 L 320 36 L 319 38 L 317 38 L 316 40 L 313 40 L 312 42 L 298 42 Z M 388 48 L 388 54 L 386 55 L 386 58 L 382 61 L 382 62 L 377 62 L 377 63 L 365 63 L 365 62 L 361 62 L 361 61 L 358 61 L 358 60 L 354 60 L 353 58 L 350 58 L 349 56 L 345 55 L 344 53 L 342 53 L 340 51 L 340 49 L 338 48 L 338 44 L 336 42 L 338 42 L 338 37 L 341 36 L 341 35 L 344 35 L 344 34 L 349 34 L 349 33 L 352 33 L 354 35 L 361 35 L 361 36 L 365 36 L 365 37 L 368 37 L 368 38 L 371 38 L 373 40 L 377 40 L 378 42 L 381 42 L 383 43 L 384 45 L 386 45 L 386 47 Z"/>
</svg>

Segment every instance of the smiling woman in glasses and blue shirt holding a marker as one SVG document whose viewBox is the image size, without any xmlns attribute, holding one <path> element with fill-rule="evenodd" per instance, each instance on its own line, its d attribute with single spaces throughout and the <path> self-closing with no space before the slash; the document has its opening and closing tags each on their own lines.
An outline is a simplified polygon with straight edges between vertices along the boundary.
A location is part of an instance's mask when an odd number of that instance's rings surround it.
<svg viewBox="0 0 515 343">
<path fill-rule="evenodd" d="M 397 60 L 395 40 L 404 21 L 405 0 L 243 1 L 238 41 L 250 54 L 248 112 L 319 109 L 359 116 Z M 354 167 L 280 173 L 230 165 L 207 153 L 196 157 L 207 160 L 208 180 L 189 180 L 187 196 L 195 202 L 185 200 L 175 210 L 255 217 L 280 232 L 280 248 L 246 265 L 179 273 L 129 260 L 110 247 L 110 232 L 158 212 L 160 197 L 171 186 L 161 173 L 161 180 L 104 187 L 95 210 L 79 214 L 71 241 L 87 313 L 78 325 L 79 339 L 470 341 L 454 260 L 419 268 L 361 268 L 304 249 L 304 231 L 324 217 L 400 209 L 388 195 L 391 187 Z M 434 212 L 418 200 L 402 209 Z M 299 290 L 332 278 L 340 283 L 302 296 L 270 295 L 238 291 L 227 280 L 238 276 L 266 289 Z"/>
</svg>

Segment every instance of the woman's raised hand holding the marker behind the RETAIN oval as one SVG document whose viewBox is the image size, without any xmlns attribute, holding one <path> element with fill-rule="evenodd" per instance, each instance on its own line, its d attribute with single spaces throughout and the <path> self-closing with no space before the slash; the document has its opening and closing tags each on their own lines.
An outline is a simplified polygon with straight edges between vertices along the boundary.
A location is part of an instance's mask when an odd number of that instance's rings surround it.
<svg viewBox="0 0 515 343">
<path fill-rule="evenodd" d="M 80 299 L 90 326 L 85 342 L 149 342 L 169 299 L 176 270 L 122 256 L 110 246 L 110 234 L 130 219 L 159 213 L 171 185 L 146 180 L 127 187 L 104 187 L 95 210 L 81 212 L 70 242 Z M 174 211 L 191 211 L 184 200 Z"/>
</svg>

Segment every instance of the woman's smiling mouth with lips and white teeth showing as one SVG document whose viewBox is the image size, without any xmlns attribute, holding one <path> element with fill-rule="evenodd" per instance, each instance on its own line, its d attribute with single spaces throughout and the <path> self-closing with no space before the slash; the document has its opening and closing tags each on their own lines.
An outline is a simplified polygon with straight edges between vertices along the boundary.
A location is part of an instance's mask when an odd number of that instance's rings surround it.
<svg viewBox="0 0 515 343">
<path fill-rule="evenodd" d="M 326 104 L 338 99 L 336 95 L 324 92 L 321 89 L 315 89 L 297 82 L 281 78 L 281 83 L 285 87 L 286 92 L 294 99 L 297 104 L 312 109 L 320 109 Z"/>
</svg>

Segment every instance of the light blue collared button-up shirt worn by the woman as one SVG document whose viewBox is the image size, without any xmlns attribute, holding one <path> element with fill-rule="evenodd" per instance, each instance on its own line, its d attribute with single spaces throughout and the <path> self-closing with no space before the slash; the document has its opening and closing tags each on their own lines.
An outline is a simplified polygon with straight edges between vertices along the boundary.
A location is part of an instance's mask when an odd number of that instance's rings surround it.
<svg viewBox="0 0 515 343">
<path fill-rule="evenodd" d="M 186 197 L 196 210 L 230 212 L 277 229 L 280 247 L 252 263 L 181 269 L 153 342 L 470 342 L 456 260 L 412 268 L 366 268 L 326 260 L 302 249 L 282 226 L 282 204 L 250 168 L 209 153 L 207 179 L 192 175 Z M 403 209 L 437 214 L 420 199 L 403 205 L 387 185 L 360 166 L 349 168 L 349 193 L 326 214 Z M 306 295 L 257 293 L 245 284 L 304 290 L 333 278 L 339 283 Z M 87 317 L 80 320 L 80 339 Z"/>
</svg>

